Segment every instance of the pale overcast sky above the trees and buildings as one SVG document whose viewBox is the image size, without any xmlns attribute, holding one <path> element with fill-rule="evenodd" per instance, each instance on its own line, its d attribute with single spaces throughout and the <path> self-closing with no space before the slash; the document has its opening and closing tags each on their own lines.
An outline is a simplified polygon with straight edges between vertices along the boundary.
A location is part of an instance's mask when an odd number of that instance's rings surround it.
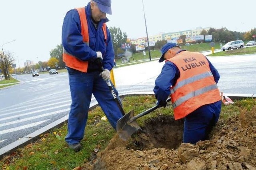
<svg viewBox="0 0 256 170">
<path fill-rule="evenodd" d="M 0 46 L 13 52 L 18 66 L 26 60 L 47 61 L 50 50 L 61 44 L 66 12 L 87 5 L 89 0 L 0 0 Z M 148 36 L 226 27 L 246 32 L 256 27 L 255 0 L 144 0 Z M 146 36 L 142 0 L 112 0 L 107 26 L 120 27 L 128 38 Z M 2 50 L 2 49 L 1 49 Z M 18 56 L 18 57 L 17 57 Z"/>
</svg>

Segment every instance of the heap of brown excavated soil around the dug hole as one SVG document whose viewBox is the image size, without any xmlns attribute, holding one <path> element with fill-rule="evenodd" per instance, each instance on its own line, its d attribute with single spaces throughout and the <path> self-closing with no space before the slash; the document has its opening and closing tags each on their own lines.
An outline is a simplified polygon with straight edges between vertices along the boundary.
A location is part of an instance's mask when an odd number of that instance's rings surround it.
<svg viewBox="0 0 256 170">
<path fill-rule="evenodd" d="M 172 122 L 180 127 L 166 127 L 173 121 L 167 120 L 149 122 L 150 128 L 144 127 L 134 146 L 116 135 L 94 164 L 85 164 L 83 169 L 256 170 L 256 106 L 250 112 L 241 110 L 240 116 L 228 121 L 220 119 L 210 140 L 196 145 L 181 143 L 182 132 L 177 129 L 183 127 L 182 122 Z"/>
</svg>

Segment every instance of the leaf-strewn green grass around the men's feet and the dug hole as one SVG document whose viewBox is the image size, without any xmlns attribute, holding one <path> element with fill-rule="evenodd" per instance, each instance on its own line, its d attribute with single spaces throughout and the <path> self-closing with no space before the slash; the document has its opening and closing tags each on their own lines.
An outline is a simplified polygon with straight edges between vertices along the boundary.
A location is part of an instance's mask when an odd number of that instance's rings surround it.
<svg viewBox="0 0 256 170">
<path fill-rule="evenodd" d="M 122 100 L 125 112 L 134 110 L 135 115 L 153 106 L 156 99 L 153 95 L 129 96 Z M 223 105 L 220 118 L 228 120 L 232 116 L 240 113 L 240 108 L 245 107 L 251 110 L 256 105 L 256 99 L 235 100 L 232 105 Z M 152 117 L 166 115 L 172 116 L 173 110 L 168 103 L 166 108 L 158 108 L 154 112 L 147 114 L 137 122 L 140 126 Z M 56 128 L 47 134 L 40 136 L 40 140 L 33 144 L 20 148 L 15 154 L 5 156 L 0 161 L 3 170 L 70 170 L 90 161 L 95 150 L 101 151 L 106 148 L 115 131 L 108 122 L 101 120 L 104 116 L 102 110 L 96 107 L 89 112 L 86 133 L 82 140 L 83 149 L 74 152 L 68 148 L 64 137 L 67 134 L 67 125 Z"/>
</svg>

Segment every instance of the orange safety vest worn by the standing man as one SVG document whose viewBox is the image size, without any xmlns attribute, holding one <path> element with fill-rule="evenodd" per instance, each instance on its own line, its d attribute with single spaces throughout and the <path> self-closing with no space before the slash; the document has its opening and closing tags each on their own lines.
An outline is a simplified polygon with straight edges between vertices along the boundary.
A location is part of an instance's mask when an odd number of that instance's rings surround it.
<svg viewBox="0 0 256 170">
<path fill-rule="evenodd" d="M 80 17 L 80 22 L 81 22 L 81 34 L 83 36 L 83 41 L 87 45 L 89 45 L 89 32 L 88 32 L 88 24 L 87 24 L 87 19 L 86 19 L 86 14 L 85 14 L 85 8 L 76 8 L 78 11 L 79 17 Z M 107 40 L 107 26 L 104 23 L 102 26 L 102 30 L 104 33 L 105 40 Z M 105 42 L 106 43 L 106 42 Z M 66 63 L 66 66 L 70 68 L 74 68 L 76 70 L 79 70 L 81 72 L 87 72 L 88 69 L 88 61 L 83 61 L 75 56 L 72 56 L 66 50 L 63 48 L 63 62 Z"/>
</svg>

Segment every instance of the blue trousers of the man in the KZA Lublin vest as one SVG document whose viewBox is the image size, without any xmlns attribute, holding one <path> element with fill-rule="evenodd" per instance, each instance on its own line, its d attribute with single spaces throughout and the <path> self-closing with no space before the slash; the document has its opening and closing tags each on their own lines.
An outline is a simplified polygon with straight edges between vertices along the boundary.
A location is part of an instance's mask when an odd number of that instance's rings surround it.
<svg viewBox="0 0 256 170">
<path fill-rule="evenodd" d="M 184 119 L 183 142 L 196 144 L 208 140 L 209 133 L 220 116 L 221 101 L 206 104 L 188 114 Z"/>
</svg>

